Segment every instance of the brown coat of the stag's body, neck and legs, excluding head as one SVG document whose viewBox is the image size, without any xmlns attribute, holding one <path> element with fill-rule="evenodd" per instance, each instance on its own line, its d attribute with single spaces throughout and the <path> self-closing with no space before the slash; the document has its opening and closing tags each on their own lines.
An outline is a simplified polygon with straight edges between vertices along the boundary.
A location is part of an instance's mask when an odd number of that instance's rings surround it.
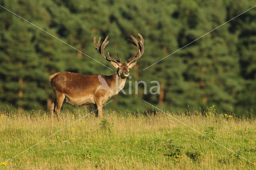
<svg viewBox="0 0 256 170">
<path fill-rule="evenodd" d="M 120 70 L 120 69 L 119 69 Z M 101 76 L 112 92 L 104 89 L 97 90 L 97 87 L 102 83 L 99 81 L 98 76 Z M 126 77 L 118 76 L 115 72 L 111 76 L 104 76 L 100 74 L 84 75 L 73 72 L 58 72 L 50 76 L 50 83 L 56 95 L 56 104 L 50 106 L 51 115 L 56 111 L 59 117 L 60 108 L 64 99 L 74 106 L 85 106 L 94 104 L 98 108 L 96 116 L 102 116 L 102 105 L 106 103 L 108 98 L 118 93 L 123 86 L 116 92 L 116 77 L 118 84 L 126 81 Z M 96 91 L 97 90 L 97 91 Z M 54 109 L 55 108 L 55 109 Z"/>
</svg>

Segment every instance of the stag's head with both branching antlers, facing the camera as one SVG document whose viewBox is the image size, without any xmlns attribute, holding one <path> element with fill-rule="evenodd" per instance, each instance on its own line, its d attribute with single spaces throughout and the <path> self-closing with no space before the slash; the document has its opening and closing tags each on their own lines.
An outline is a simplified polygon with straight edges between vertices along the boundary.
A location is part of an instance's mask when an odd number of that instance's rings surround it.
<svg viewBox="0 0 256 170">
<path fill-rule="evenodd" d="M 106 39 L 104 40 L 102 45 L 100 45 L 101 38 L 99 38 L 98 43 L 96 43 L 96 37 L 94 37 L 94 45 L 96 46 L 96 50 L 98 50 L 98 52 L 100 52 L 100 54 L 105 58 L 105 60 L 111 62 L 112 66 L 114 68 L 117 68 L 118 76 L 120 78 L 126 78 L 130 75 L 130 73 L 129 73 L 130 69 L 134 68 L 134 66 L 137 63 L 136 60 L 138 60 L 144 52 L 143 37 L 140 34 L 138 34 L 138 35 L 140 36 L 140 44 L 139 44 L 138 40 L 136 40 L 136 38 L 134 38 L 133 36 L 131 36 L 132 40 L 128 39 L 130 42 L 132 42 L 132 44 L 137 46 L 137 52 L 134 52 L 132 57 L 124 63 L 121 61 L 121 58 L 118 56 L 117 52 L 116 52 L 116 56 L 117 56 L 118 60 L 111 58 L 109 52 L 108 52 L 108 56 L 106 56 L 106 54 L 104 52 L 104 48 L 108 44 L 108 36 L 106 37 Z"/>
</svg>

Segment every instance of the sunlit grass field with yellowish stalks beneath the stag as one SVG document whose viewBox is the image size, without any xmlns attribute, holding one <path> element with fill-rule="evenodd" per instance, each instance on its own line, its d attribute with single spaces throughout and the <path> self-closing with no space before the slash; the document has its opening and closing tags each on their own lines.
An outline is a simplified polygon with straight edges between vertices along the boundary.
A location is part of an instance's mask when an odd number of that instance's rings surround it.
<svg viewBox="0 0 256 170">
<path fill-rule="evenodd" d="M 0 110 L 0 170 L 71 169 L 256 169 L 255 117 L 187 112 L 168 114 L 233 150 L 212 142 L 162 112 L 105 111 L 104 120 L 86 110 L 64 110 L 61 120 L 40 110 Z"/>
</svg>

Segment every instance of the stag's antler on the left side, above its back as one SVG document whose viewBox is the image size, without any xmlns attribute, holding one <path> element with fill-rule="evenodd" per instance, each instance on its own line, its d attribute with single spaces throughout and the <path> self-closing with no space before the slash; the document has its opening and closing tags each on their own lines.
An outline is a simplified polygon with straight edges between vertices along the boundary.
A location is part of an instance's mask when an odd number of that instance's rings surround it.
<svg viewBox="0 0 256 170">
<path fill-rule="evenodd" d="M 105 38 L 105 40 L 102 42 L 102 45 L 100 45 L 100 40 L 101 37 L 98 40 L 98 43 L 96 43 L 96 37 L 94 37 L 93 42 L 94 45 L 96 46 L 96 50 L 107 60 L 107 61 L 113 61 L 116 63 L 121 62 L 121 58 L 118 56 L 118 53 L 116 52 L 116 56 L 118 58 L 118 60 L 110 57 L 109 52 L 108 52 L 108 56 L 106 56 L 105 52 L 104 52 L 104 48 L 108 45 L 108 36 Z"/>
</svg>

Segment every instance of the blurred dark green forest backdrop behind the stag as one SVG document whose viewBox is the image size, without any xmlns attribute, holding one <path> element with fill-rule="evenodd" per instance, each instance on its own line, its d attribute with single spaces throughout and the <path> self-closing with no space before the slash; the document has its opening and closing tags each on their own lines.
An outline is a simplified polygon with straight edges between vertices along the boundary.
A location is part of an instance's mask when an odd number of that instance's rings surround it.
<svg viewBox="0 0 256 170">
<path fill-rule="evenodd" d="M 207 111 L 214 105 L 212 109 L 221 111 L 255 113 L 256 9 L 168 56 L 251 8 L 255 0 L 0 0 L 0 4 L 110 68 L 96 52 L 93 38 L 108 35 L 106 52 L 114 57 L 118 51 L 125 61 L 136 51 L 126 39 L 140 33 L 144 56 L 124 87 L 129 93 L 131 81 L 132 94 L 120 92 L 107 108 L 151 109 L 144 99 L 165 109 Z M 55 72 L 110 75 L 115 71 L 2 7 L 0 20 L 1 108 L 46 109 L 55 98 L 48 80 Z M 143 94 L 143 86 L 134 94 L 135 81 L 140 80 L 146 81 L 148 94 Z M 160 82 L 160 95 L 149 94 L 153 80 Z"/>
</svg>

